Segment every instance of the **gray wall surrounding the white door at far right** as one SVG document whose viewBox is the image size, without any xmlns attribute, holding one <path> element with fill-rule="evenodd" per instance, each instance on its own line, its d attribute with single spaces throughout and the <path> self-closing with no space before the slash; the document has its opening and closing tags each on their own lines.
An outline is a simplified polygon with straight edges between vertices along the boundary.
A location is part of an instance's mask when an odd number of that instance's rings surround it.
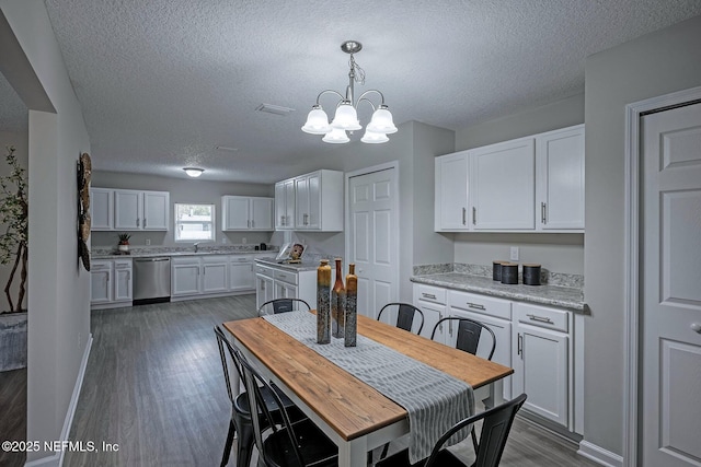
<svg viewBox="0 0 701 467">
<path fill-rule="evenodd" d="M 622 453 L 625 105 L 701 84 L 701 16 L 586 62 L 585 440 Z"/>
</svg>

